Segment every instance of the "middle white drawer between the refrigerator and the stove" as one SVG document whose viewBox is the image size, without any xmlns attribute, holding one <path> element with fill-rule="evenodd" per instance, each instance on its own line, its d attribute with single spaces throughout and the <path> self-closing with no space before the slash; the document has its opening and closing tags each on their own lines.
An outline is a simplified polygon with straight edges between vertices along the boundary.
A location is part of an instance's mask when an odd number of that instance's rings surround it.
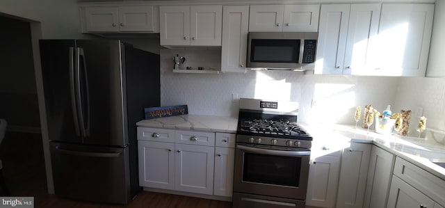
<svg viewBox="0 0 445 208">
<path fill-rule="evenodd" d="M 176 143 L 189 145 L 215 145 L 215 133 L 202 131 L 175 131 Z"/>
</svg>

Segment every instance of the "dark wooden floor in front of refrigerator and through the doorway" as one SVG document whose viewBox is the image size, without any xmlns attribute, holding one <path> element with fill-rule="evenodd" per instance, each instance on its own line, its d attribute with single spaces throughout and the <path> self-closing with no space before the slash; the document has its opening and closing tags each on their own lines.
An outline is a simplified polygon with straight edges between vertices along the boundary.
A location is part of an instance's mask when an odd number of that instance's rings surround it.
<svg viewBox="0 0 445 208">
<path fill-rule="evenodd" d="M 143 191 L 127 205 L 109 205 L 59 198 L 47 193 L 42 139 L 40 134 L 7 131 L 0 145 L 3 177 L 12 196 L 33 196 L 35 207 L 232 207 L 231 202 Z"/>
</svg>

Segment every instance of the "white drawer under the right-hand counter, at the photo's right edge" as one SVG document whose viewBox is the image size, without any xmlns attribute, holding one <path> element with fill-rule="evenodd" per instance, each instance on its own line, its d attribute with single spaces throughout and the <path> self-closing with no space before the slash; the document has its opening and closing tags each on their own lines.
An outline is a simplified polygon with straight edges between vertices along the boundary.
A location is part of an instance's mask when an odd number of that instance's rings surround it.
<svg viewBox="0 0 445 208">
<path fill-rule="evenodd" d="M 394 165 L 394 175 L 397 175 L 405 182 L 428 195 L 429 198 L 445 205 L 445 181 L 428 173 L 426 170 L 414 166 L 412 163 L 396 158 Z"/>
</svg>

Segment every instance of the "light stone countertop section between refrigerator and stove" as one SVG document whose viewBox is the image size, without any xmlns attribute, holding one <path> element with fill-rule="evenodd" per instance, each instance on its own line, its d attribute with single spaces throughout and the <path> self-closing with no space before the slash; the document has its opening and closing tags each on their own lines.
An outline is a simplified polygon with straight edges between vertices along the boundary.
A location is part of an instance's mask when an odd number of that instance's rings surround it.
<svg viewBox="0 0 445 208">
<path fill-rule="evenodd" d="M 236 133 L 238 118 L 217 115 L 177 115 L 172 117 L 141 120 L 138 127 L 183 129 Z"/>
</svg>

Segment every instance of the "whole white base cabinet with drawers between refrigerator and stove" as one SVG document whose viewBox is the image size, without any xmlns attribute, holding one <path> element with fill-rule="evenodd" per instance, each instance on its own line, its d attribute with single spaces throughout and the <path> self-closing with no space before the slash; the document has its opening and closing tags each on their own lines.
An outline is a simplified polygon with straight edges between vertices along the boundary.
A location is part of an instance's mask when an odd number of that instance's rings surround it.
<svg viewBox="0 0 445 208">
<path fill-rule="evenodd" d="M 229 133 L 138 127 L 139 185 L 231 198 L 235 139 Z"/>
</svg>

